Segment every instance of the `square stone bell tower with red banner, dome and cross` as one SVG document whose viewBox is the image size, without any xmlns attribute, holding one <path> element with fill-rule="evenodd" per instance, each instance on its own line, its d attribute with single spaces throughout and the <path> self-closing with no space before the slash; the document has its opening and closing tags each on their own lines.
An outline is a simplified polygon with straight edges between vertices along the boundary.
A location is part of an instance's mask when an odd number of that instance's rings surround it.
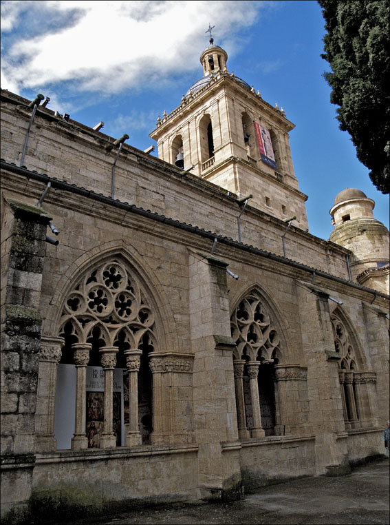
<svg viewBox="0 0 390 525">
<path fill-rule="evenodd" d="M 209 45 L 200 55 L 203 76 L 171 113 L 158 117 L 149 135 L 158 156 L 238 196 L 272 216 L 296 216 L 307 229 L 305 201 L 290 152 L 294 124 L 226 67 L 228 54 Z"/>
</svg>

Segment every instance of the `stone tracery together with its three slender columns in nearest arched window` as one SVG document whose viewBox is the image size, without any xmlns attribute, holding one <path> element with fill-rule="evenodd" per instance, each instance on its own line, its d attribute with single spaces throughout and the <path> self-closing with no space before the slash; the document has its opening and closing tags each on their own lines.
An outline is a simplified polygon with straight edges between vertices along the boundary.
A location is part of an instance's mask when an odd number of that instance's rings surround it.
<svg viewBox="0 0 390 525">
<path fill-rule="evenodd" d="M 100 263 L 89 270 L 69 292 L 63 307 L 60 333 L 65 338 L 67 362 L 76 364 L 78 374 L 76 398 L 77 405 L 81 408 L 76 412 L 76 432 L 72 448 L 85 449 L 88 446 L 85 436 L 85 407 L 81 402 L 85 398 L 87 364 L 101 365 L 104 371 L 105 420 L 100 446 L 116 446 L 112 404 L 113 369 L 117 366 L 126 368 L 129 373 L 132 406 L 127 446 L 140 444 L 138 381 L 146 381 L 142 387 L 143 398 L 145 392 L 151 397 L 151 384 L 149 385 L 149 380 L 144 378 L 141 370 L 149 369 L 149 353 L 157 349 L 154 328 L 155 318 L 146 294 L 127 265 L 118 259 Z M 79 347 L 83 347 L 83 355 Z M 142 378 L 138 378 L 138 375 L 142 375 Z M 151 399 L 146 404 L 151 406 Z"/>
</svg>

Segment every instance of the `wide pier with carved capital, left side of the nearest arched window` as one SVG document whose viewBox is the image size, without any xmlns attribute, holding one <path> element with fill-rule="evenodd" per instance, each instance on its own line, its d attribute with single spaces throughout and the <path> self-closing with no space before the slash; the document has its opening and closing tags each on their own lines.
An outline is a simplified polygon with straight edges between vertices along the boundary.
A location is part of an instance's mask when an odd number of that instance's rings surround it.
<svg viewBox="0 0 390 525">
<path fill-rule="evenodd" d="M 36 398 L 36 452 L 56 450 L 54 408 L 56 404 L 57 364 L 64 340 L 42 336 L 39 354 L 38 392 Z"/>
</svg>

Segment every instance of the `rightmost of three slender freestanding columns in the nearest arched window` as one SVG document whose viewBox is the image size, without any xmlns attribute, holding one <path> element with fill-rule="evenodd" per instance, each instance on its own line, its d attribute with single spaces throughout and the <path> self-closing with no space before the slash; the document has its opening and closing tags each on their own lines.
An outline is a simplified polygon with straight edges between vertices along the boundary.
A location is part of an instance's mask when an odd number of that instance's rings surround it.
<svg viewBox="0 0 390 525">
<path fill-rule="evenodd" d="M 126 367 L 129 372 L 129 431 L 126 436 L 126 446 L 142 444 L 140 425 L 138 423 L 138 371 L 141 364 L 141 350 L 126 350 Z"/>
</svg>

